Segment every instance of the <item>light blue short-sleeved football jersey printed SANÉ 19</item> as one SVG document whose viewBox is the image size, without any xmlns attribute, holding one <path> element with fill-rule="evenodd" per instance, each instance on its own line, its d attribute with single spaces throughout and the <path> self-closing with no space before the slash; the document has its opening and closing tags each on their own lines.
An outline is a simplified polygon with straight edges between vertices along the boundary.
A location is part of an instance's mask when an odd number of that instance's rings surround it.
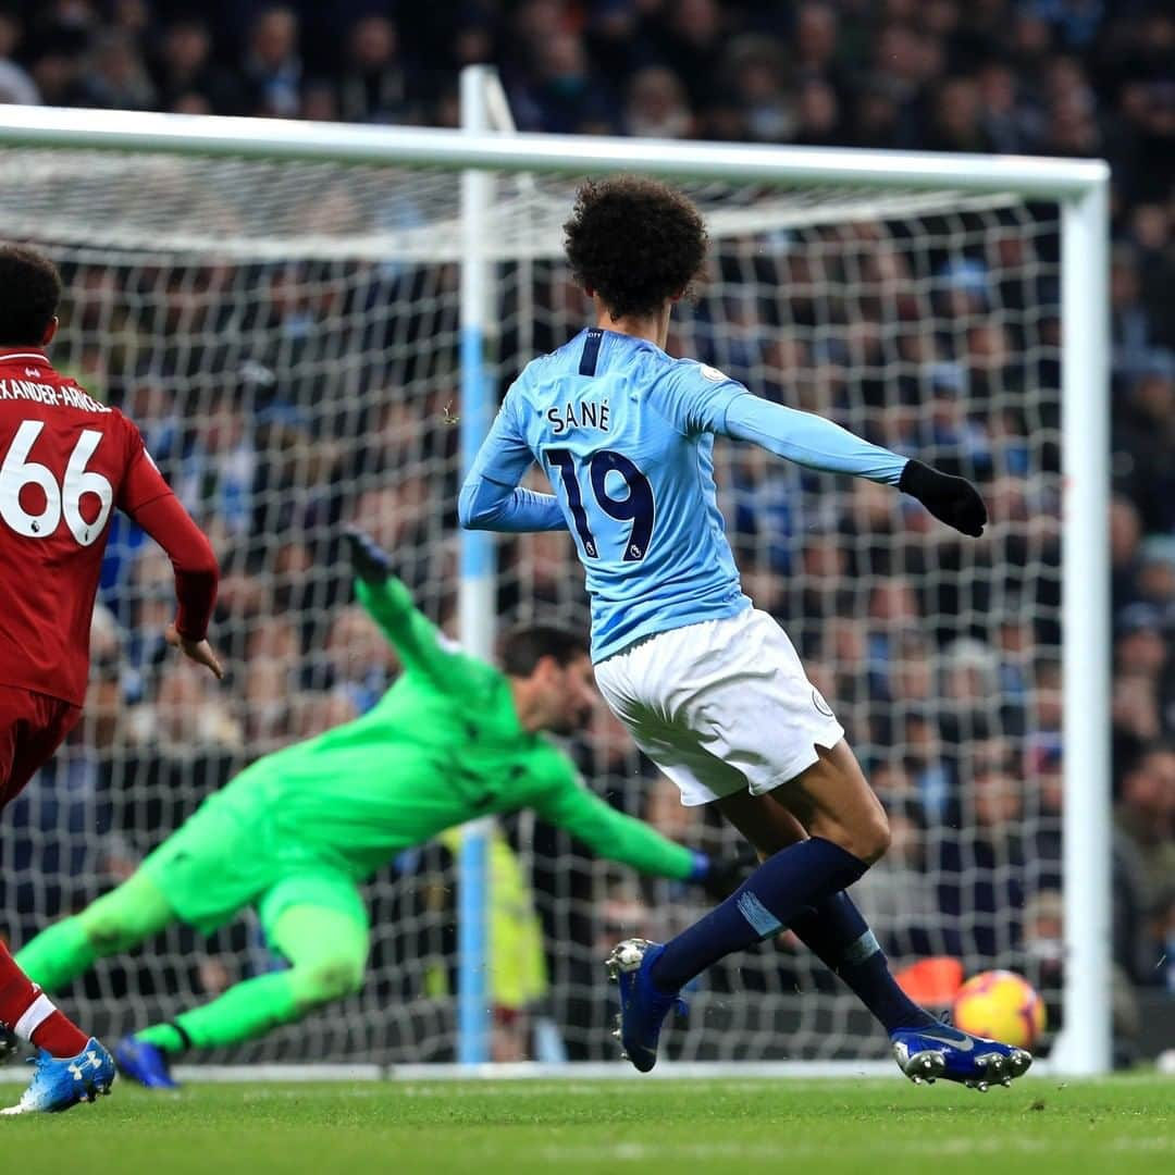
<svg viewBox="0 0 1175 1175">
<path fill-rule="evenodd" d="M 714 434 L 746 394 L 713 368 L 598 328 L 511 385 L 477 472 L 513 486 L 530 458 L 543 466 L 586 571 L 593 660 L 751 606 L 713 476 Z"/>
</svg>

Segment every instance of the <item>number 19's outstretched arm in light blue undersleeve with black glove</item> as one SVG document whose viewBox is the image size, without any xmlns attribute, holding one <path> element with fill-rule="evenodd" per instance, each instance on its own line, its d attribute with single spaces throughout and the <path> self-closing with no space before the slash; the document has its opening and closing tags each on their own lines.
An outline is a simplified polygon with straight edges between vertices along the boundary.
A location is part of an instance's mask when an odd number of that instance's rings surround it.
<svg viewBox="0 0 1175 1175">
<path fill-rule="evenodd" d="M 972 538 L 979 538 L 987 524 L 983 499 L 966 478 L 942 474 L 920 461 L 871 444 L 821 416 L 746 392 L 727 405 L 723 431 L 808 469 L 854 474 L 897 485 L 918 498 L 939 522 Z"/>
</svg>

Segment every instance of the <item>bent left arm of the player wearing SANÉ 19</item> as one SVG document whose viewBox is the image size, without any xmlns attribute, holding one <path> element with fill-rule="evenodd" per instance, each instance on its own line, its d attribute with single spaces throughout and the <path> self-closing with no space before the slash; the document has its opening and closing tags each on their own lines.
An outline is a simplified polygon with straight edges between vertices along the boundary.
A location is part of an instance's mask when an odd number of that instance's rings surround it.
<svg viewBox="0 0 1175 1175">
<path fill-rule="evenodd" d="M 457 518 L 462 526 L 504 532 L 566 530 L 555 495 L 518 486 L 533 459 L 508 395 L 461 488 Z"/>
</svg>

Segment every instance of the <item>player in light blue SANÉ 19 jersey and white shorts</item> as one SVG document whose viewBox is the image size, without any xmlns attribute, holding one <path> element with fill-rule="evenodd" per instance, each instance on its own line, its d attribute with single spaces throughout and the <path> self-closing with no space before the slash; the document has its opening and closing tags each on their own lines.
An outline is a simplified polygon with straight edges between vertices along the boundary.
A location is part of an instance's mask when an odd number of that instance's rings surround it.
<svg viewBox="0 0 1175 1175">
<path fill-rule="evenodd" d="M 683 803 L 717 805 L 761 860 L 677 938 L 612 952 L 625 1055 L 651 1069 L 680 989 L 788 927 L 881 1022 L 907 1076 L 1010 1082 L 1032 1056 L 913 1003 L 846 893 L 888 847 L 885 811 L 786 633 L 743 593 L 714 497 L 714 437 L 894 485 L 972 537 L 987 522 L 982 498 L 961 477 L 665 354 L 673 303 L 706 251 L 682 194 L 631 176 L 589 182 L 565 231 L 596 324 L 510 388 L 462 489 L 461 522 L 571 531 L 600 692 Z M 553 495 L 519 488 L 536 461 Z"/>
</svg>

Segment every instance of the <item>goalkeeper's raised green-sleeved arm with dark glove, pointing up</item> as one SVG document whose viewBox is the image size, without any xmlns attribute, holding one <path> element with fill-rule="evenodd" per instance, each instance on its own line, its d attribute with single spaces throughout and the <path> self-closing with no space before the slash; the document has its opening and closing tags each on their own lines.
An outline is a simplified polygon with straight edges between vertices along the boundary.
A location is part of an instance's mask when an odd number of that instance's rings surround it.
<svg viewBox="0 0 1175 1175">
<path fill-rule="evenodd" d="M 451 677 L 452 646 L 416 606 L 408 588 L 391 573 L 391 557 L 367 532 L 349 526 L 343 532 L 356 593 L 368 615 L 380 625 L 405 670 Z"/>
</svg>

